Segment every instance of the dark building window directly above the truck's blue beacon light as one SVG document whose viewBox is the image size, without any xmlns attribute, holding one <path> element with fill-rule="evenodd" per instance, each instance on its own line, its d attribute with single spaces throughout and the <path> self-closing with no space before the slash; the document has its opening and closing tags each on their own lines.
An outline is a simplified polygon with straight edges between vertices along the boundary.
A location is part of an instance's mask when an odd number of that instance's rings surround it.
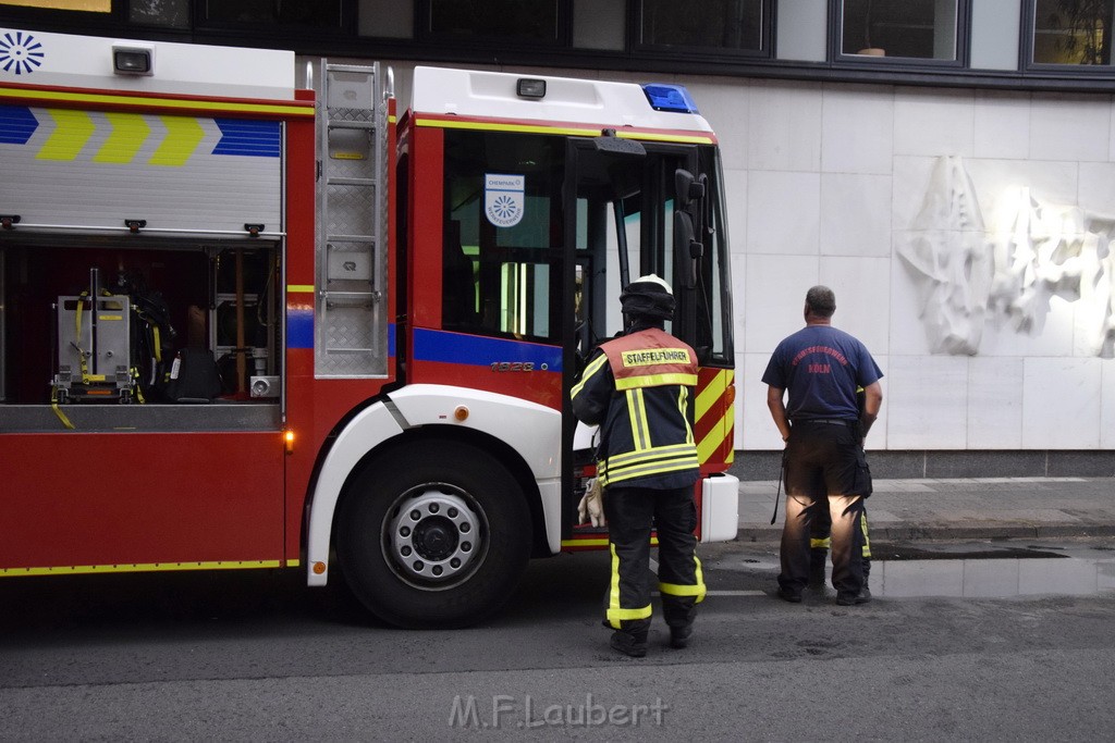
<svg viewBox="0 0 1115 743">
<path fill-rule="evenodd" d="M 724 51 L 767 51 L 769 4 L 765 0 L 642 0 L 642 46 Z"/>
</svg>

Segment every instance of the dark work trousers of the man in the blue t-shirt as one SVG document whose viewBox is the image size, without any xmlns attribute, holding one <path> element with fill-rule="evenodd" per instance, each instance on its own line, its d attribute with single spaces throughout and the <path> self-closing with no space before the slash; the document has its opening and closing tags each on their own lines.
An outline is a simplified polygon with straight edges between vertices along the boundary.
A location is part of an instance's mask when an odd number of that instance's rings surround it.
<svg viewBox="0 0 1115 743">
<path fill-rule="evenodd" d="M 795 421 L 791 428 L 778 576 L 784 590 L 799 594 L 808 584 L 809 532 L 822 508 L 832 520 L 833 587 L 849 598 L 863 588 L 863 498 L 852 491 L 859 447 L 853 428 L 844 423 Z"/>
</svg>

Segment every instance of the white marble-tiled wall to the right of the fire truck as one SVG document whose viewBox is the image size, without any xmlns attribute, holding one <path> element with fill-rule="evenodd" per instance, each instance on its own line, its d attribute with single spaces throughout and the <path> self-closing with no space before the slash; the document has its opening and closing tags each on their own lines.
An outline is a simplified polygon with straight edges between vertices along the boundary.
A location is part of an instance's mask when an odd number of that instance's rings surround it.
<svg viewBox="0 0 1115 743">
<path fill-rule="evenodd" d="M 988 222 L 1019 187 L 1115 215 L 1112 96 L 678 80 L 724 145 L 738 448 L 782 446 L 759 379 L 815 283 L 836 291 L 834 323 L 885 373 L 870 448 L 1115 448 L 1115 360 L 1085 338 L 1088 307 L 1054 296 L 1035 334 L 980 317 L 973 354 L 934 353 L 900 258 L 942 156 L 961 158 Z"/>
</svg>

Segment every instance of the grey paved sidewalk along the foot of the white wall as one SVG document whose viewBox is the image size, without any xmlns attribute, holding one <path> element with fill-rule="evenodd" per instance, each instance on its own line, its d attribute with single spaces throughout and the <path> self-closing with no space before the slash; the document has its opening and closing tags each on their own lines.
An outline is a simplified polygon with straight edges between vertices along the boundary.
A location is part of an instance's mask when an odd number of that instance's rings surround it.
<svg viewBox="0 0 1115 743">
<path fill-rule="evenodd" d="M 770 525 L 776 480 L 739 485 L 741 541 L 777 541 L 786 493 Z M 1115 537 L 1115 478 L 875 480 L 867 499 L 875 541 Z"/>
</svg>

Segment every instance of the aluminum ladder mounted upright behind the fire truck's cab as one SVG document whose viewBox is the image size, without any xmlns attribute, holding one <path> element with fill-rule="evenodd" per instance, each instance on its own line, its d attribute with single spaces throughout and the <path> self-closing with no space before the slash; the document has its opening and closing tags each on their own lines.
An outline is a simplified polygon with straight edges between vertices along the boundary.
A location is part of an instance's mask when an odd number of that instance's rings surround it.
<svg viewBox="0 0 1115 743">
<path fill-rule="evenodd" d="M 314 377 L 385 377 L 390 70 L 322 60 L 318 80 Z"/>
</svg>

